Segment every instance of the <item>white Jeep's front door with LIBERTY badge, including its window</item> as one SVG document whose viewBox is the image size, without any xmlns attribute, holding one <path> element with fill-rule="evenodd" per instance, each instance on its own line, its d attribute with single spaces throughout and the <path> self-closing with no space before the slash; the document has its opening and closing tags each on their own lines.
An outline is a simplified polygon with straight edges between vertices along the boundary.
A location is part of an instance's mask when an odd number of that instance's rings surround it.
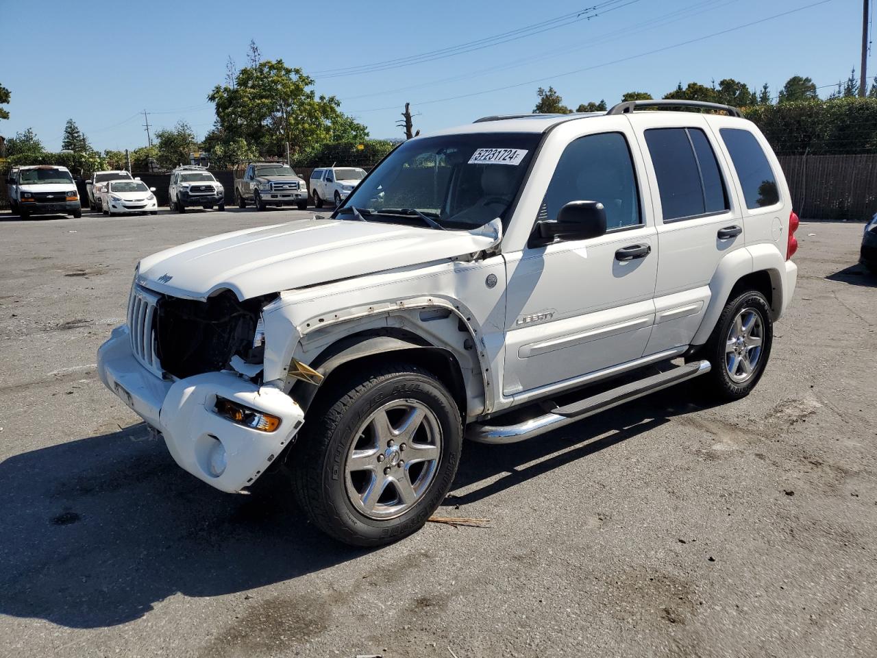
<svg viewBox="0 0 877 658">
<path fill-rule="evenodd" d="M 531 240 L 506 254 L 506 396 L 574 383 L 645 351 L 658 254 L 651 209 L 637 184 L 643 163 L 631 144 L 627 122 L 569 141 L 539 208 L 537 220 L 555 219 L 570 201 L 599 201 L 605 235 L 546 247 Z"/>
</svg>

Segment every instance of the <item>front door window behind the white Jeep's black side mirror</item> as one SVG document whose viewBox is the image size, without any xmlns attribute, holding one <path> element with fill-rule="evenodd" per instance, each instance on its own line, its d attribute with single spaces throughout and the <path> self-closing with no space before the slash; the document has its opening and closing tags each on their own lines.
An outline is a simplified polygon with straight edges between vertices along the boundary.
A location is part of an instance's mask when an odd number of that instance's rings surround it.
<svg viewBox="0 0 877 658">
<path fill-rule="evenodd" d="M 538 218 L 557 218 L 560 208 L 570 201 L 599 201 L 606 209 L 609 230 L 642 222 L 631 151 L 624 135 L 586 135 L 564 149 Z"/>
</svg>

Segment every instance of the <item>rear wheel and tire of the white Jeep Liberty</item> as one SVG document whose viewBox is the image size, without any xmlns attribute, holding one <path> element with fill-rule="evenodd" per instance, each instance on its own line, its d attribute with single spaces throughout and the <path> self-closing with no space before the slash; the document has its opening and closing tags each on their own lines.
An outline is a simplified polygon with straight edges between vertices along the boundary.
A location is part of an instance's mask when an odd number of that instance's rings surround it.
<svg viewBox="0 0 877 658">
<path fill-rule="evenodd" d="M 759 383 L 774 344 L 770 314 L 770 304 L 757 290 L 745 290 L 725 304 L 716 328 L 697 353 L 712 365 L 709 374 L 698 378 L 698 383 L 705 384 L 701 390 L 709 398 L 718 402 L 739 400 Z M 742 333 L 741 328 L 745 330 Z"/>
</svg>

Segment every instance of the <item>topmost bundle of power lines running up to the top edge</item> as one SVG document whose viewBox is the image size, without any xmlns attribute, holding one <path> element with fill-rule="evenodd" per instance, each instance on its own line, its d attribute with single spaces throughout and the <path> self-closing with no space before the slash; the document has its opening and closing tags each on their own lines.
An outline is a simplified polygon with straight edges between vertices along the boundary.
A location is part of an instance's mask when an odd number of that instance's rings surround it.
<svg viewBox="0 0 877 658">
<path fill-rule="evenodd" d="M 472 53 L 476 50 L 481 50 L 483 48 L 499 46 L 500 44 L 515 41 L 517 39 L 524 39 L 525 37 L 530 37 L 535 34 L 541 34 L 542 32 L 555 30 L 559 27 L 571 25 L 581 20 L 590 20 L 591 18 L 602 16 L 602 14 L 621 9 L 622 7 L 626 7 L 629 4 L 635 4 L 638 2 L 640 2 L 640 0 L 607 0 L 606 2 L 595 4 L 591 7 L 586 7 L 579 11 L 572 11 L 556 18 L 549 18 L 548 20 L 542 21 L 540 23 L 526 25 L 524 27 L 519 27 L 516 30 L 502 32 L 500 34 L 495 34 L 494 36 L 486 37 L 484 39 L 477 39 L 475 41 L 458 44 L 457 46 L 447 46 L 446 48 L 440 48 L 439 50 L 433 50 L 427 53 L 409 55 L 407 57 L 400 57 L 393 60 L 377 61 L 371 64 L 361 64 L 360 66 L 356 67 L 328 68 L 322 71 L 313 71 L 312 75 L 319 76 L 321 79 L 341 77 L 345 75 L 363 75 L 367 73 L 385 71 L 390 68 L 401 68 L 411 66 L 413 64 L 422 64 L 427 61 L 435 61 L 444 59 L 446 57 L 452 57 L 453 55 Z"/>
</svg>

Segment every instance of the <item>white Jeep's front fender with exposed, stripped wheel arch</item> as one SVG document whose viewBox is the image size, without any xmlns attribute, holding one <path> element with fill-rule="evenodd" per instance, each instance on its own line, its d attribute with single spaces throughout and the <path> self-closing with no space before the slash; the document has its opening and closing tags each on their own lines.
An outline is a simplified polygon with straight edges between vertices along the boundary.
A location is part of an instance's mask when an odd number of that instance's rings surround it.
<svg viewBox="0 0 877 658">
<path fill-rule="evenodd" d="M 363 304 L 363 299 L 370 302 Z M 476 300 L 477 306 L 467 307 L 460 299 Z M 494 366 L 502 362 L 503 340 L 496 340 L 496 334 L 503 333 L 504 315 L 502 256 L 286 290 L 264 310 L 265 379 L 286 380 L 293 358 L 310 363 L 345 336 L 392 326 L 454 354 L 464 368 L 470 412 L 488 410 L 493 391 L 499 390 L 500 373 Z M 272 340 L 275 336 L 279 340 Z M 473 371 L 471 376 L 466 369 Z"/>
</svg>

